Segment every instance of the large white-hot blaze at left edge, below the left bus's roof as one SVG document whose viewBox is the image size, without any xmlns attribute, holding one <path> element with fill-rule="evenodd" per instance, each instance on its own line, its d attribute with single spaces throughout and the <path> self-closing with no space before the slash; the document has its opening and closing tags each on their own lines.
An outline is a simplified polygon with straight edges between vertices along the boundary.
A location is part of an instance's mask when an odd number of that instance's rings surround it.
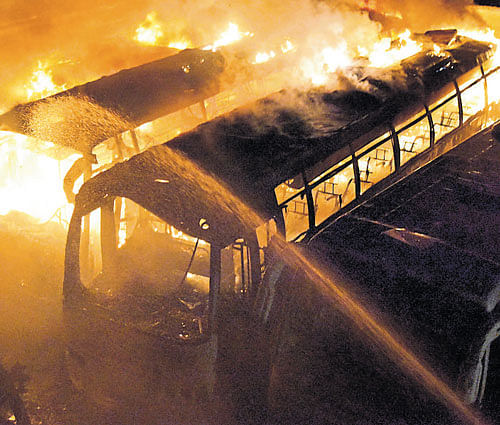
<svg viewBox="0 0 500 425">
<path fill-rule="evenodd" d="M 71 208 L 62 188 L 65 173 L 78 155 L 56 160 L 30 150 L 35 141 L 27 136 L 7 131 L 0 132 L 0 197 L 8 200 L 0 206 L 0 214 L 21 211 L 46 221 L 69 220 Z"/>
</svg>

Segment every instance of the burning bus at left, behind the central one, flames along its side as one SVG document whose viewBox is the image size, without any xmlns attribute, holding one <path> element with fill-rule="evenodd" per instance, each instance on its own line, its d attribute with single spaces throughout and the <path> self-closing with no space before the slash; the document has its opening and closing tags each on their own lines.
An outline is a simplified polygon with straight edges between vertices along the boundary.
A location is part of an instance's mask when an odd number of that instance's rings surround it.
<svg viewBox="0 0 500 425">
<path fill-rule="evenodd" d="M 235 28 L 232 32 L 238 31 Z M 238 36 L 233 34 L 236 40 Z M 234 40 L 215 41 L 217 48 L 178 51 L 18 104 L 0 115 L 4 149 L 14 160 L 16 156 L 43 154 L 52 162 L 57 161 L 65 174 L 66 198 L 72 202 L 75 187 L 80 185 L 80 181 L 76 182 L 82 175 L 86 180 L 110 164 L 158 143 L 157 140 L 170 140 L 281 88 L 281 80 L 273 76 L 265 60 L 253 62 L 248 46 L 225 47 L 230 42 Z M 292 48 L 287 45 L 287 49 Z M 274 56 L 274 62 L 279 62 L 279 55 Z M 44 74 L 43 79 L 47 78 L 49 75 Z M 41 174 L 40 178 L 46 177 L 46 173 Z M 29 190 L 28 185 L 21 186 L 21 190 Z M 61 202 L 50 203 L 54 210 L 60 206 Z M 22 210 L 38 214 L 26 205 Z M 63 214 L 61 221 L 69 220 L 69 215 Z"/>
</svg>

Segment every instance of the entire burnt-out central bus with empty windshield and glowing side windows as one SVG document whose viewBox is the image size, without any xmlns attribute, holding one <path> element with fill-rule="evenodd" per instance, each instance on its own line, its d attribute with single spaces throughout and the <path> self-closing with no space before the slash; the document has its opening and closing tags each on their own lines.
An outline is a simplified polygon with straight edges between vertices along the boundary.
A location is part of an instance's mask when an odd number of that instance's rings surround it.
<svg viewBox="0 0 500 425">
<path fill-rule="evenodd" d="M 455 37 L 440 54 L 386 70 L 386 80 L 353 70 L 366 91 L 282 91 L 86 182 L 63 283 L 74 385 L 110 408 L 161 411 L 163 421 L 263 411 L 275 388 L 273 300 L 290 275 L 269 248 L 273 234 L 307 242 L 496 119 L 494 50 Z M 89 215 L 98 233 L 90 249 Z"/>
</svg>

